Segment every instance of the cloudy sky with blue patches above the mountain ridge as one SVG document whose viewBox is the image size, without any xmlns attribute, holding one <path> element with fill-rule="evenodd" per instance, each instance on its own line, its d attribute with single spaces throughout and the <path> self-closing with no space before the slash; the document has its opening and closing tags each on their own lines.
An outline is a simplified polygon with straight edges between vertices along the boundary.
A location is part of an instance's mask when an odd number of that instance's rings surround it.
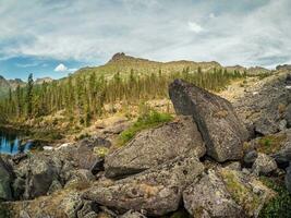
<svg viewBox="0 0 291 218">
<path fill-rule="evenodd" d="M 114 53 L 291 63 L 290 0 L 0 0 L 0 75 L 60 78 Z"/>
</svg>

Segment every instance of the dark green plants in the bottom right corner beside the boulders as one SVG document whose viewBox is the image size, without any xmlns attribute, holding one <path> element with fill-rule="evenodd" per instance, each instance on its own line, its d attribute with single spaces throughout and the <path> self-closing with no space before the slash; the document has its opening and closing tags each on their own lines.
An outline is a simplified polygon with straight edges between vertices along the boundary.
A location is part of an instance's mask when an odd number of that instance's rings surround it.
<svg viewBox="0 0 291 218">
<path fill-rule="evenodd" d="M 260 177 L 260 181 L 269 189 L 276 191 L 278 195 L 266 204 L 260 214 L 259 218 L 289 218 L 291 217 L 291 195 L 286 189 L 283 181 L 279 179 L 270 179 Z"/>
</svg>

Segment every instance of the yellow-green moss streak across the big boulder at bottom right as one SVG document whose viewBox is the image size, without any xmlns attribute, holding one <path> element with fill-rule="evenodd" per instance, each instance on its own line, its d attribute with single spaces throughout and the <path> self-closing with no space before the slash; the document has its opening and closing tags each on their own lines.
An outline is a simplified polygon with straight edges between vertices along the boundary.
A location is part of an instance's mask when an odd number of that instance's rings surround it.
<svg viewBox="0 0 291 218">
<path fill-rule="evenodd" d="M 231 170 L 221 170 L 221 175 L 233 199 L 239 205 L 242 205 L 248 214 L 252 214 L 252 211 L 259 207 L 259 196 L 253 193 L 252 187 L 242 183 L 237 172 Z"/>
</svg>

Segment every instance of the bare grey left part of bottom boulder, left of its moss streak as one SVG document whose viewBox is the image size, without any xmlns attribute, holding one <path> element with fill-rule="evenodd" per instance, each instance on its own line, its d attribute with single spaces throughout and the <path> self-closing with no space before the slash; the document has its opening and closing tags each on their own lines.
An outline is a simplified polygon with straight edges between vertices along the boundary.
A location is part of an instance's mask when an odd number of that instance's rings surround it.
<svg viewBox="0 0 291 218">
<path fill-rule="evenodd" d="M 242 207 L 232 199 L 223 181 L 213 170 L 183 192 L 183 201 L 185 208 L 194 217 L 199 217 L 203 210 L 209 217 L 243 217 Z"/>
</svg>

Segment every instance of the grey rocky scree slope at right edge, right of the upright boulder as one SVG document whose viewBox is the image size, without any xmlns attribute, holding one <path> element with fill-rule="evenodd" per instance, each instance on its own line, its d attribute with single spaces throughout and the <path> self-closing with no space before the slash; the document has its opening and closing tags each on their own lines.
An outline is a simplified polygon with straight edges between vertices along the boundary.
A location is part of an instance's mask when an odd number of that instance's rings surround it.
<svg viewBox="0 0 291 218">
<path fill-rule="evenodd" d="M 286 88 L 286 73 L 266 77 L 247 87 L 245 95 L 233 101 L 243 122 L 253 125 L 258 134 L 276 133 L 281 129 L 281 121 L 288 120 L 291 92 Z"/>
</svg>

